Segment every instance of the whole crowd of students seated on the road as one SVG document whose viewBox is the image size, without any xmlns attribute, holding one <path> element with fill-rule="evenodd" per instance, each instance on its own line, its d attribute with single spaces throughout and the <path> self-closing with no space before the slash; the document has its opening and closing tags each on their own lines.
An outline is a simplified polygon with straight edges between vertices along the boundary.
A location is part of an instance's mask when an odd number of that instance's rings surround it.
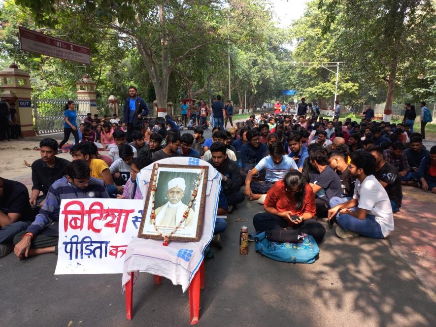
<svg viewBox="0 0 436 327">
<path fill-rule="evenodd" d="M 258 200 L 266 212 L 255 216 L 256 231 L 291 228 L 317 240 L 325 230 L 314 219 L 322 218 L 330 227 L 337 223 L 340 237 L 384 238 L 394 228 L 393 213 L 401 210 L 402 185 L 436 193 L 436 146 L 425 149 L 421 134 L 402 124 L 264 114 L 232 131 L 215 127 L 206 139 L 201 127 L 181 135 L 167 116 L 144 119 L 142 131 L 127 143 L 116 120 L 101 124 L 88 115 L 81 141 L 70 149 L 72 163 L 56 156 L 56 140 L 42 140 L 31 196 L 24 185 L 0 178 L 0 255 L 10 252 L 12 241 L 19 259 L 56 251 L 50 237 L 56 236 L 60 199 L 142 198 L 136 174 L 165 158 L 201 158 L 221 173 L 218 213 L 232 212 L 245 197 Z M 108 156 L 99 150 L 109 150 Z M 224 225 L 217 222 L 217 230 Z"/>
</svg>

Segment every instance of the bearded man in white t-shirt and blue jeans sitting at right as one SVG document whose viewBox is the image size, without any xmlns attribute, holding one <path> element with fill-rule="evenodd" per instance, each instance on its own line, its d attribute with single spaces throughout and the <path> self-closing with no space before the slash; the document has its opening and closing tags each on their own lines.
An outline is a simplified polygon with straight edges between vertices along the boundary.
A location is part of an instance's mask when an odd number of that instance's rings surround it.
<svg viewBox="0 0 436 327">
<path fill-rule="evenodd" d="M 348 166 L 356 177 L 353 198 L 332 207 L 328 213 L 329 225 L 336 220 L 336 235 L 341 238 L 366 236 L 385 238 L 394 230 L 392 206 L 386 190 L 372 175 L 375 159 L 368 152 L 355 152 Z M 331 199 L 334 204 L 335 198 Z"/>
</svg>

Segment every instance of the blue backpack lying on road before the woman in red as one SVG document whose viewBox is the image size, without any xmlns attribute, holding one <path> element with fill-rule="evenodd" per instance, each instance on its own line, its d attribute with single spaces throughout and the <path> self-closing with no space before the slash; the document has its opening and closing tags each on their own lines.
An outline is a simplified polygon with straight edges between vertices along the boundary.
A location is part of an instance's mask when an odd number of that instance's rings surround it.
<svg viewBox="0 0 436 327">
<path fill-rule="evenodd" d="M 302 243 L 271 242 L 262 232 L 254 238 L 256 252 L 276 261 L 292 263 L 313 263 L 319 253 L 318 244 L 312 236 L 304 237 Z"/>
</svg>

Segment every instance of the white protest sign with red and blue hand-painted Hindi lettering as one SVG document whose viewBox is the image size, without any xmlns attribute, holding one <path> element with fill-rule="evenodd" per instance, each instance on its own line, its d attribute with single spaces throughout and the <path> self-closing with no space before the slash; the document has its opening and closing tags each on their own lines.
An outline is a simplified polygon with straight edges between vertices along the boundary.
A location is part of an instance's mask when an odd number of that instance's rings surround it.
<svg viewBox="0 0 436 327">
<path fill-rule="evenodd" d="M 127 245 L 138 234 L 143 200 L 62 200 L 55 275 L 123 272 Z"/>
</svg>

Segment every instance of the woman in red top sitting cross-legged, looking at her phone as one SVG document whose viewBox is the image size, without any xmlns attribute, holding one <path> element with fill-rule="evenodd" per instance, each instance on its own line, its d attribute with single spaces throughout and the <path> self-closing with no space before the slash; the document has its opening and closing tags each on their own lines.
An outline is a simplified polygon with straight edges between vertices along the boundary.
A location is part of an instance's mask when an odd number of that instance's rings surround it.
<svg viewBox="0 0 436 327">
<path fill-rule="evenodd" d="M 315 221 L 315 194 L 305 182 L 302 173 L 292 169 L 283 180 L 275 182 L 264 201 L 266 212 L 253 217 L 258 232 L 271 229 L 298 229 L 300 233 L 313 236 L 320 243 L 326 233 L 324 226 Z M 293 220 L 292 216 L 298 216 Z"/>
</svg>

